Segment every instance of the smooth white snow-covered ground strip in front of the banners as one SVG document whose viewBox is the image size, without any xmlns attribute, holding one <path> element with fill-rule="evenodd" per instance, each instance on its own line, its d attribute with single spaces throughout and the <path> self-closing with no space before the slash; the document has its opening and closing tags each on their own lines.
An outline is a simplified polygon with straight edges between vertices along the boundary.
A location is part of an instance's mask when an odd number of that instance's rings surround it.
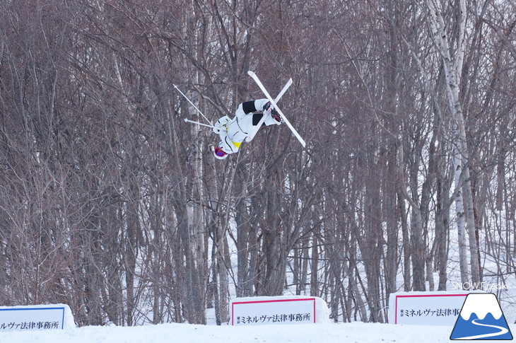
<svg viewBox="0 0 516 343">
<path fill-rule="evenodd" d="M 516 325 L 510 325 L 514 335 Z M 139 327 L 81 327 L 74 330 L 5 332 L 9 343 L 435 343 L 451 342 L 452 327 L 373 324 L 363 322 L 299 325 L 189 325 L 160 324 Z M 491 341 L 483 341 L 491 342 Z M 493 341 L 494 342 L 494 341 Z M 499 341 L 497 341 L 499 342 Z"/>
</svg>

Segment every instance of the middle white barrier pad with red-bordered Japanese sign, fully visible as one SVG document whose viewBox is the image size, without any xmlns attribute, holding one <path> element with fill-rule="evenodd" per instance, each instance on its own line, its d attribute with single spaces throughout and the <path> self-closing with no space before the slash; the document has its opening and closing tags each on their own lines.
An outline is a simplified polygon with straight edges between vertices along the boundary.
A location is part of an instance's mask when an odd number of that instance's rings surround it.
<svg viewBox="0 0 516 343">
<path fill-rule="evenodd" d="M 231 301 L 231 325 L 328 323 L 327 303 L 317 296 L 253 296 Z"/>
</svg>

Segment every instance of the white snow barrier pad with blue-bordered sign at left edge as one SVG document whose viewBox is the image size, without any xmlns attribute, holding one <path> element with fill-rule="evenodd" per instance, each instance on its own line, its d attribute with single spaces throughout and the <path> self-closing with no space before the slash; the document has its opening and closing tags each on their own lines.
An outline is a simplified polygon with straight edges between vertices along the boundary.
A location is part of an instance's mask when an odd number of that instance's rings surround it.
<svg viewBox="0 0 516 343">
<path fill-rule="evenodd" d="M 0 332 L 75 328 L 68 305 L 0 306 Z"/>
</svg>

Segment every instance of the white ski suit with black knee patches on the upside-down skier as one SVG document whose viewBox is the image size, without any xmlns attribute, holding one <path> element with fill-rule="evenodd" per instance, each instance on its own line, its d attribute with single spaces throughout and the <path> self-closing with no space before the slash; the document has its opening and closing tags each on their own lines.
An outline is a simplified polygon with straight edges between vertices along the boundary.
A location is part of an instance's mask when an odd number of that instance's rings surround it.
<svg viewBox="0 0 516 343">
<path fill-rule="evenodd" d="M 253 132 L 262 119 L 262 112 L 253 112 L 262 111 L 266 103 L 269 103 L 269 100 L 258 99 L 246 101 L 238 105 L 233 120 L 225 115 L 215 123 L 213 131 L 221 136 L 221 141 L 218 146 L 225 151 L 225 153 L 236 153 L 238 149 L 240 149 L 242 141 L 245 141 L 247 136 Z M 271 115 L 268 115 L 264 121 L 264 125 L 272 124 L 281 124 L 281 122 L 276 121 Z"/>
</svg>

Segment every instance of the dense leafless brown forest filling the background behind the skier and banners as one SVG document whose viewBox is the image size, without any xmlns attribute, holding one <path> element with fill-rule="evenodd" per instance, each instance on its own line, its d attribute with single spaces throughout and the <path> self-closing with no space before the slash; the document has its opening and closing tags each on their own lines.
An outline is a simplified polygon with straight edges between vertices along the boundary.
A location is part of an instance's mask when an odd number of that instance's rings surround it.
<svg viewBox="0 0 516 343">
<path fill-rule="evenodd" d="M 324 298 L 515 276 L 512 0 L 4 0 L 0 305 L 78 325 L 228 320 L 233 296 Z M 238 155 L 211 120 L 281 109 Z M 452 275 L 454 275 L 452 277 Z"/>
</svg>

